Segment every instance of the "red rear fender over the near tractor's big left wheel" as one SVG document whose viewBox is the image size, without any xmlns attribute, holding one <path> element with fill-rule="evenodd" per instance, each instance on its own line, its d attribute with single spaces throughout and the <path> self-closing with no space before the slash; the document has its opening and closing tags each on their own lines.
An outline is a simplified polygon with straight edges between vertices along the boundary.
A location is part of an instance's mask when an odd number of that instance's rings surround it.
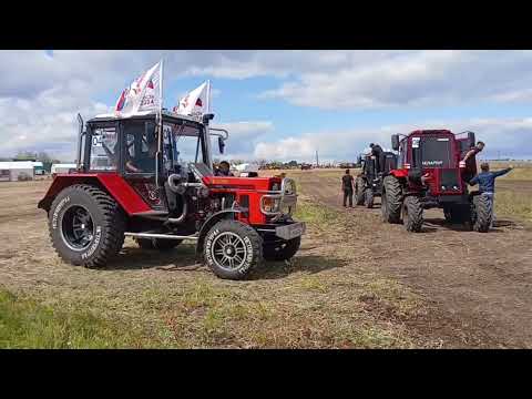
<svg viewBox="0 0 532 399">
<path fill-rule="evenodd" d="M 44 198 L 39 202 L 38 207 L 47 212 L 50 211 L 55 196 L 63 188 L 74 184 L 92 184 L 105 190 L 130 216 L 153 211 L 133 187 L 115 173 L 58 174 L 50 188 L 48 188 Z"/>
</svg>

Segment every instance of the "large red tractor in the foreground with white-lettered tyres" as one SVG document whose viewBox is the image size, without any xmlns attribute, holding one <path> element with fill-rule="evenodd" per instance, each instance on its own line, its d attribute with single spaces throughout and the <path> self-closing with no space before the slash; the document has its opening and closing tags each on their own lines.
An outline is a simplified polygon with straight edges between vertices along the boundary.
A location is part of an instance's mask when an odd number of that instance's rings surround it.
<svg viewBox="0 0 532 399">
<path fill-rule="evenodd" d="M 305 224 L 291 217 L 291 178 L 214 176 L 211 139 L 228 133 L 172 112 L 143 116 L 79 115 L 78 168 L 58 174 L 39 208 L 52 244 L 73 265 L 103 267 L 125 236 L 146 249 L 196 243 L 221 278 L 243 279 L 263 259 L 299 249 Z"/>
</svg>

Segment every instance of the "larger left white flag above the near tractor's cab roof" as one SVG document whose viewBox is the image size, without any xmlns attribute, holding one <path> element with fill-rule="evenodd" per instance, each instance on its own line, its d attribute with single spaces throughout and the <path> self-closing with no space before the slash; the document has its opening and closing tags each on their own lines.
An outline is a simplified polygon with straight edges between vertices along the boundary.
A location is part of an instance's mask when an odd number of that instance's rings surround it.
<svg viewBox="0 0 532 399">
<path fill-rule="evenodd" d="M 114 108 L 119 115 L 134 115 L 161 108 L 161 69 L 157 62 L 126 88 Z"/>
</svg>

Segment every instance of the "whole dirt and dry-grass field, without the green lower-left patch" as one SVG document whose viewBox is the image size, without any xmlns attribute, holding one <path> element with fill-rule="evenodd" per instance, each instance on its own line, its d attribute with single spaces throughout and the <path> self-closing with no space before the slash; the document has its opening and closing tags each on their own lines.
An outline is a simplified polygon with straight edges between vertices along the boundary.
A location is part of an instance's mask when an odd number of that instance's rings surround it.
<svg viewBox="0 0 532 399">
<path fill-rule="evenodd" d="M 288 173 L 308 234 L 291 263 L 267 263 L 247 282 L 217 279 L 192 245 L 160 254 L 126 239 L 106 269 L 66 265 L 37 209 L 50 182 L 2 183 L 0 288 L 119 320 L 149 337 L 141 347 L 532 347 L 526 226 L 501 216 L 490 234 L 464 232 L 434 211 L 407 235 L 378 208 L 340 207 L 340 174 Z"/>
</svg>

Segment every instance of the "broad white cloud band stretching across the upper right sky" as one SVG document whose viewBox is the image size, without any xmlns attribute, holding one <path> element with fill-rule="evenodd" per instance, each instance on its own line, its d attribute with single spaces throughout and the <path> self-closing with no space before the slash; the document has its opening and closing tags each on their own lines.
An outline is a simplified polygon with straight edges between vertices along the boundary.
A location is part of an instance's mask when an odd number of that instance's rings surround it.
<svg viewBox="0 0 532 399">
<path fill-rule="evenodd" d="M 330 110 L 532 98 L 530 51 L 390 51 L 366 60 L 357 55 L 342 58 L 334 73 L 304 69 L 259 98 Z"/>
</svg>

